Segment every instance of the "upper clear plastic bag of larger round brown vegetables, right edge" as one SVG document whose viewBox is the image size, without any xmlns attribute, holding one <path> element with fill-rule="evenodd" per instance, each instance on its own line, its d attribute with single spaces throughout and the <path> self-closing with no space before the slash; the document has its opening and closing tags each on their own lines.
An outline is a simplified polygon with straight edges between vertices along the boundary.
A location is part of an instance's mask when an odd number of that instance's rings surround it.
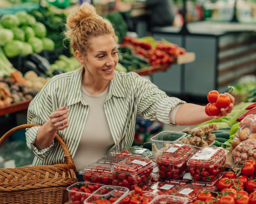
<svg viewBox="0 0 256 204">
<path fill-rule="evenodd" d="M 256 139 L 256 115 L 247 115 L 239 125 L 237 132 L 235 133 L 233 142 L 230 146 L 229 152 L 232 153 L 234 148 L 241 142 L 248 139 Z"/>
</svg>

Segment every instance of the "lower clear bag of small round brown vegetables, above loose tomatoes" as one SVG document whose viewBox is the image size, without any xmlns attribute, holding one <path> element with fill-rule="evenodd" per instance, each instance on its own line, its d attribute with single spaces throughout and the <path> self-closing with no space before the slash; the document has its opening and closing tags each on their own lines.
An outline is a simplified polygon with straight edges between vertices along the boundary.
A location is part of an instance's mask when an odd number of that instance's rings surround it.
<svg viewBox="0 0 256 204">
<path fill-rule="evenodd" d="M 256 161 L 256 141 L 247 139 L 241 142 L 232 152 L 232 158 L 235 163 L 242 164 L 242 161 Z"/>
</svg>

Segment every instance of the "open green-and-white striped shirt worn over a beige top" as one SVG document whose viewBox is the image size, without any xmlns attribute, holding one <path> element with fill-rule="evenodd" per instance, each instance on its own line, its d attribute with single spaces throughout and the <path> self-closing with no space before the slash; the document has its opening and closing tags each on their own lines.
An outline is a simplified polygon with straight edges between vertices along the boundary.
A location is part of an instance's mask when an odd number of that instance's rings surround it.
<svg viewBox="0 0 256 204">
<path fill-rule="evenodd" d="M 89 106 L 82 98 L 81 79 L 82 68 L 54 76 L 34 97 L 28 109 L 28 123 L 41 125 L 48 121 L 50 114 L 59 107 L 66 106 L 70 110 L 69 127 L 58 131 L 57 134 L 66 143 L 72 156 L 75 155 L 89 112 Z M 137 114 L 151 121 L 174 126 L 169 122 L 169 113 L 179 103 L 185 102 L 168 97 L 148 79 L 133 72 L 115 71 L 104 102 L 115 145 L 132 145 Z M 36 155 L 33 165 L 64 163 L 64 152 L 55 140 L 49 147 L 41 150 L 33 145 L 38 128 L 31 127 L 26 132 L 27 144 Z"/>
</svg>

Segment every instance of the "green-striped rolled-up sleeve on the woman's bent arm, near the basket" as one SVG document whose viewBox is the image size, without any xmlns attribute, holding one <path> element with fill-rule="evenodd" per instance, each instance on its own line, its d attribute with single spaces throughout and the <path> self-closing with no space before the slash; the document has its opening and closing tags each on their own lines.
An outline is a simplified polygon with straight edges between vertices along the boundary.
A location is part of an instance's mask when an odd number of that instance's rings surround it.
<svg viewBox="0 0 256 204">
<path fill-rule="evenodd" d="M 50 114 L 52 112 L 50 103 L 51 99 L 47 94 L 47 88 L 43 88 L 29 105 L 27 116 L 28 124 L 34 123 L 43 125 L 46 123 L 49 120 Z M 34 146 L 34 142 L 39 127 L 40 126 L 27 128 L 25 135 L 28 147 L 34 152 L 36 157 L 38 157 L 40 160 L 43 160 L 53 149 L 54 140 L 49 147 L 40 150 L 37 149 L 36 146 Z M 45 137 L 47 137 L 47 135 L 45 135 Z"/>
</svg>

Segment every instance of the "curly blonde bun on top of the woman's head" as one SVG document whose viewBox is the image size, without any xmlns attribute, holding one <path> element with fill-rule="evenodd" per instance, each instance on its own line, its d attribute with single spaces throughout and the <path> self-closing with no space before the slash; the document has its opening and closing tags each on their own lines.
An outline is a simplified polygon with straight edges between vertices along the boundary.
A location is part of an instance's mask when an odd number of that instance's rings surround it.
<svg viewBox="0 0 256 204">
<path fill-rule="evenodd" d="M 73 37 L 77 27 L 81 25 L 81 23 L 85 22 L 90 18 L 98 17 L 100 16 L 97 15 L 95 8 L 88 3 L 84 3 L 81 6 L 77 7 L 77 9 L 75 9 L 73 13 L 67 17 L 67 31 L 65 33 L 66 37 Z"/>
</svg>

